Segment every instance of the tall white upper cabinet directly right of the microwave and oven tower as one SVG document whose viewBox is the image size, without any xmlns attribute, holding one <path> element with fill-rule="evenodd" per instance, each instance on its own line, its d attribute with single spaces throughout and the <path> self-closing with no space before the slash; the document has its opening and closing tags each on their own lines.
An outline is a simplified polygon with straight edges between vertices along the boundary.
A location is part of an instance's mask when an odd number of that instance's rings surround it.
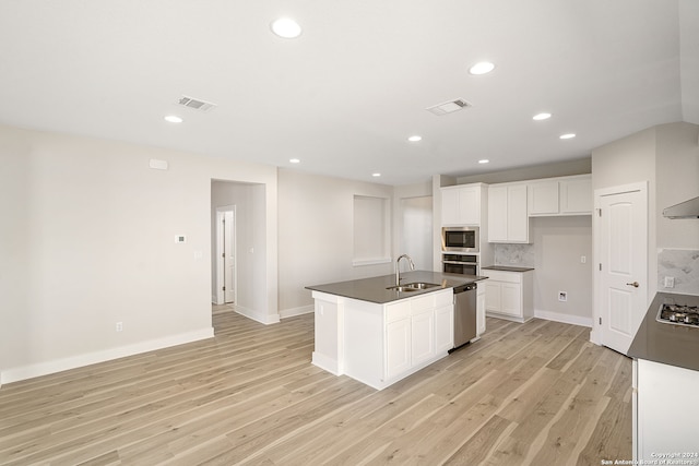
<svg viewBox="0 0 699 466">
<path fill-rule="evenodd" d="M 529 242 L 525 183 L 491 184 L 488 189 L 488 241 Z"/>
</svg>

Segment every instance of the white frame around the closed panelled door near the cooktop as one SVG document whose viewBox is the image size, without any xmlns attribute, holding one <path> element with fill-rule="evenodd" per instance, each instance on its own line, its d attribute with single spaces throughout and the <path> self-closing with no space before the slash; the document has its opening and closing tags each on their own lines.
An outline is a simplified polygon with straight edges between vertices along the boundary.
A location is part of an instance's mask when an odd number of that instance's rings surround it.
<svg viewBox="0 0 699 466">
<path fill-rule="evenodd" d="M 649 304 L 649 294 L 651 291 L 651 280 L 649 279 L 650 274 L 650 200 L 649 200 L 649 191 L 648 191 L 648 181 L 639 181 L 635 183 L 620 184 L 616 187 L 609 188 L 601 188 L 594 190 L 594 212 L 592 214 L 592 231 L 593 231 L 593 267 L 592 267 L 592 284 L 593 284 L 593 292 L 592 292 L 592 330 L 590 331 L 590 342 L 595 345 L 604 346 L 604 340 L 602 339 L 602 324 L 600 320 L 602 318 L 606 318 L 602 315 L 602 300 L 604 299 L 604 292 L 602 289 L 602 274 L 600 273 L 599 264 L 602 261 L 602 224 L 600 220 L 600 210 L 602 198 L 615 194 L 624 194 L 628 192 L 639 191 L 642 194 L 643 202 L 645 203 L 645 306 Z"/>
</svg>

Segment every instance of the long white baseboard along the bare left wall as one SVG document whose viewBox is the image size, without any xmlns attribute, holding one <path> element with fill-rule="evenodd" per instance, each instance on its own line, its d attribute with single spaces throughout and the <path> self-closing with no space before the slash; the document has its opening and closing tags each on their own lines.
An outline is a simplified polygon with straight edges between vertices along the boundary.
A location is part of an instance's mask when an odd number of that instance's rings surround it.
<svg viewBox="0 0 699 466">
<path fill-rule="evenodd" d="M 0 373 L 0 386 L 3 383 L 19 382 L 21 380 L 33 379 L 35 377 L 48 375 L 69 369 L 82 368 L 85 366 L 110 361 L 112 359 L 123 358 L 127 356 L 139 355 L 141 353 L 168 348 L 170 346 L 183 345 L 186 343 L 198 342 L 200 339 L 213 338 L 213 336 L 214 328 L 209 327 L 199 331 L 182 333 L 179 335 L 166 336 L 164 338 L 150 339 L 132 345 L 119 346 L 117 348 L 109 348 L 102 351 L 72 356 L 70 358 L 56 359 L 52 361 L 8 369 Z"/>
</svg>

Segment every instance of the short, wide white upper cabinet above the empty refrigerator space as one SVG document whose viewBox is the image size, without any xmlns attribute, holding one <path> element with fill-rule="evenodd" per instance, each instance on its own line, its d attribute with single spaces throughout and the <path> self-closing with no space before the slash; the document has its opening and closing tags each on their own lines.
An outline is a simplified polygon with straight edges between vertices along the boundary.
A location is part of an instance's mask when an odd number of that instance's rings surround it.
<svg viewBox="0 0 699 466">
<path fill-rule="evenodd" d="M 590 175 L 552 178 L 529 182 L 529 215 L 591 215 Z"/>
</svg>

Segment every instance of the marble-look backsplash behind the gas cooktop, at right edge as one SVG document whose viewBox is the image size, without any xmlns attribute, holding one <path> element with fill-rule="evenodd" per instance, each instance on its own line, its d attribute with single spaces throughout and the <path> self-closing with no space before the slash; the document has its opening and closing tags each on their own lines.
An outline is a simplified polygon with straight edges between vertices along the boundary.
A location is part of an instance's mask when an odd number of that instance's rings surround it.
<svg viewBox="0 0 699 466">
<path fill-rule="evenodd" d="M 675 279 L 674 288 L 665 288 L 665 277 Z M 657 290 L 699 295 L 699 250 L 660 249 L 657 251 Z"/>
</svg>

